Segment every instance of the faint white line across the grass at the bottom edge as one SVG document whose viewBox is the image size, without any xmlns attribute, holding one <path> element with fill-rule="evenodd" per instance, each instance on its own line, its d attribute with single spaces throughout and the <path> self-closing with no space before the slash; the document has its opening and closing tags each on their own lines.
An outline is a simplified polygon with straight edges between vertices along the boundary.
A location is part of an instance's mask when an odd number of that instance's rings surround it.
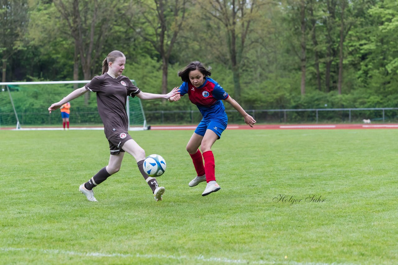
<svg viewBox="0 0 398 265">
<path fill-rule="evenodd" d="M 221 262 L 221 263 L 234 263 L 234 264 L 293 264 L 293 265 L 338 265 L 338 264 L 351 264 L 351 263 L 318 263 L 318 262 L 295 262 L 295 261 L 248 261 L 245 259 L 228 259 L 226 257 L 209 257 L 205 258 L 203 255 L 199 255 L 197 257 L 188 257 L 188 256 L 176 256 L 176 255 L 153 255 L 153 254 L 122 254 L 122 253 L 99 253 L 99 252 L 76 252 L 76 251 L 65 251 L 65 250 L 43 250 L 37 248 L 0 248 L 2 252 L 15 252 L 15 251 L 33 251 L 45 254 L 61 254 L 61 255 L 71 255 L 71 256 L 82 256 L 82 257 L 141 257 L 141 258 L 158 258 L 158 259 L 176 259 L 179 261 L 205 261 L 205 262 Z"/>
</svg>

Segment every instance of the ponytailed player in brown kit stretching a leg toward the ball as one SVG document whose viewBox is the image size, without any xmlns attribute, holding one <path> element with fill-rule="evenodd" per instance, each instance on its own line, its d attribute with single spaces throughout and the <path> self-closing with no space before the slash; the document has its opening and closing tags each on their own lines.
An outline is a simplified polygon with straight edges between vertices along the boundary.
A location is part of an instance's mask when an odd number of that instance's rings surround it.
<svg viewBox="0 0 398 265">
<path fill-rule="evenodd" d="M 137 96 L 142 100 L 170 99 L 170 97 L 179 93 L 179 89 L 174 88 L 166 95 L 142 92 L 133 85 L 128 77 L 122 75 L 125 64 L 126 57 L 122 52 L 118 50 L 110 52 L 103 60 L 102 75 L 95 76 L 90 83 L 74 90 L 64 99 L 49 107 L 51 113 L 52 110 L 60 108 L 66 102 L 76 99 L 88 91 L 97 94 L 98 112 L 104 125 L 105 136 L 109 141 L 111 155 L 108 165 L 79 187 L 79 190 L 86 195 L 89 201 L 97 201 L 92 189 L 120 170 L 125 151 L 137 161 L 138 168 L 152 189 L 156 201 L 162 200 L 165 191 L 164 187 L 158 186 L 156 178 L 152 178 L 144 172 L 145 151 L 128 133 L 129 122 L 126 101 L 127 96 Z"/>
</svg>

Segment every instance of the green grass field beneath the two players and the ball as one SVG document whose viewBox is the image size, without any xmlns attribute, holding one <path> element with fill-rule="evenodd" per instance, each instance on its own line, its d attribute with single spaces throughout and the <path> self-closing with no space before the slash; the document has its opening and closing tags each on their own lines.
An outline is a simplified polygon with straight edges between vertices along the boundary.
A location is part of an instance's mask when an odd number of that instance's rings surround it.
<svg viewBox="0 0 398 265">
<path fill-rule="evenodd" d="M 163 201 L 126 154 L 93 203 L 102 131 L 0 131 L 0 263 L 398 263 L 398 130 L 226 130 L 206 197 L 191 134 L 131 133 L 166 159 Z"/>
</svg>

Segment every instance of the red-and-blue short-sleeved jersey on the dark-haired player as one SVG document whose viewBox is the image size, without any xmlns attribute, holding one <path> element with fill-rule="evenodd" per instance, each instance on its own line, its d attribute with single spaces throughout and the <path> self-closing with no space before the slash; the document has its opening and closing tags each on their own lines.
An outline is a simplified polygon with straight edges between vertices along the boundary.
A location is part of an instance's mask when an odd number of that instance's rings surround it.
<svg viewBox="0 0 398 265">
<path fill-rule="evenodd" d="M 197 106 L 203 119 L 226 118 L 225 107 L 221 100 L 228 99 L 229 95 L 213 79 L 206 77 L 200 87 L 195 87 L 191 82 L 183 82 L 179 89 L 181 96 L 188 94 L 189 100 Z"/>
</svg>

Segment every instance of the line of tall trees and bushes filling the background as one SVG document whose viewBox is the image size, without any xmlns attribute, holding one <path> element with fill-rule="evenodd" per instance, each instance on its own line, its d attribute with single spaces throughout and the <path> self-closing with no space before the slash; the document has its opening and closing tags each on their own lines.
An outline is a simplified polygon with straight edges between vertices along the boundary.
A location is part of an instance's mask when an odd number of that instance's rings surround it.
<svg viewBox="0 0 398 265">
<path fill-rule="evenodd" d="M 398 103 L 396 0 L 0 3 L 3 82 L 90 80 L 121 50 L 125 75 L 151 93 L 180 85 L 177 70 L 199 60 L 245 108 Z"/>
</svg>

